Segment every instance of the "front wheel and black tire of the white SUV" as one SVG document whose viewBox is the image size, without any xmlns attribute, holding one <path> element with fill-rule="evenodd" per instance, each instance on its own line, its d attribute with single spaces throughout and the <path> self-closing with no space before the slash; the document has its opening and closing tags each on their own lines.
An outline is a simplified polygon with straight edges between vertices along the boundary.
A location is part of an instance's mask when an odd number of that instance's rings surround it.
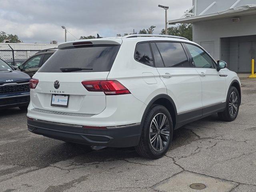
<svg viewBox="0 0 256 192">
<path fill-rule="evenodd" d="M 233 98 L 237 97 L 235 102 L 233 102 L 234 100 L 232 97 Z M 235 87 L 231 86 L 230 89 L 228 90 L 228 94 L 226 98 L 226 108 L 223 112 L 218 113 L 220 120 L 234 121 L 238 115 L 239 107 L 240 107 L 240 96 L 239 96 L 238 90 Z M 236 112 L 234 112 L 235 108 L 236 108 Z"/>
</svg>

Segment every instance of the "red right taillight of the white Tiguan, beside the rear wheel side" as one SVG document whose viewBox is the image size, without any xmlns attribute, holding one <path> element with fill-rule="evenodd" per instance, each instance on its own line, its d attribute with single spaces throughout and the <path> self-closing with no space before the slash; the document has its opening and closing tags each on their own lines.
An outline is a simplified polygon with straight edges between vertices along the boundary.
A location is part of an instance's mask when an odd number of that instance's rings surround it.
<svg viewBox="0 0 256 192">
<path fill-rule="evenodd" d="M 83 81 L 83 86 L 92 92 L 104 92 L 106 95 L 130 94 L 130 91 L 117 80 Z"/>
</svg>

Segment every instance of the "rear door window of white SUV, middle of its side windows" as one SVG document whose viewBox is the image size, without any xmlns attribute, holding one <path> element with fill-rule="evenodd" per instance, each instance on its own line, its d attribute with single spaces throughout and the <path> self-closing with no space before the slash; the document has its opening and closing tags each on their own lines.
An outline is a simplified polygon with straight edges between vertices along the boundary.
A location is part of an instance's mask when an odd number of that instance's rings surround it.
<svg viewBox="0 0 256 192">
<path fill-rule="evenodd" d="M 190 67 L 186 53 L 180 43 L 156 42 L 166 67 Z"/>
</svg>

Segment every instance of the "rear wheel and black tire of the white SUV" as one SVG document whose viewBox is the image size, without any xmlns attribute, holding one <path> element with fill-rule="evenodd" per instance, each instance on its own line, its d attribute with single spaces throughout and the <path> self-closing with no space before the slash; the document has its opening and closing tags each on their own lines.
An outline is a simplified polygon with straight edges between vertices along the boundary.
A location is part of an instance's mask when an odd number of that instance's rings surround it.
<svg viewBox="0 0 256 192">
<path fill-rule="evenodd" d="M 166 118 L 164 118 L 164 116 Z M 161 120 L 162 117 L 162 120 Z M 153 119 L 156 120 L 154 124 Z M 164 125 L 161 126 L 161 123 L 164 120 Z M 167 122 L 168 120 L 168 122 Z M 168 129 L 169 125 L 169 129 Z M 162 127 L 162 128 L 160 128 Z M 169 131 L 169 137 L 168 135 Z M 153 105 L 148 110 L 145 120 L 142 124 L 142 134 L 140 137 L 140 142 L 138 146 L 135 147 L 136 152 L 143 157 L 150 159 L 158 159 L 164 156 L 172 141 L 173 126 L 172 126 L 172 117 L 170 112 L 162 105 Z M 156 138 L 155 138 L 156 137 Z M 152 144 L 150 142 L 152 140 Z M 160 141 L 161 140 L 161 141 Z M 166 141 L 167 140 L 167 141 Z M 162 150 L 161 150 L 161 146 Z M 159 148 L 159 150 L 158 150 Z"/>
</svg>

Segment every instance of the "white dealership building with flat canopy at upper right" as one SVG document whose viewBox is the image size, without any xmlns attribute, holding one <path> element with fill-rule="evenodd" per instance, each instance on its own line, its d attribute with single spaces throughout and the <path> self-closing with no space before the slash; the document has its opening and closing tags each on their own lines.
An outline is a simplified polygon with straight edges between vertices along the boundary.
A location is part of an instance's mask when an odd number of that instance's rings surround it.
<svg viewBox="0 0 256 192">
<path fill-rule="evenodd" d="M 193 0 L 169 24 L 193 24 L 193 41 L 235 72 L 251 72 L 256 58 L 256 0 Z"/>
</svg>

